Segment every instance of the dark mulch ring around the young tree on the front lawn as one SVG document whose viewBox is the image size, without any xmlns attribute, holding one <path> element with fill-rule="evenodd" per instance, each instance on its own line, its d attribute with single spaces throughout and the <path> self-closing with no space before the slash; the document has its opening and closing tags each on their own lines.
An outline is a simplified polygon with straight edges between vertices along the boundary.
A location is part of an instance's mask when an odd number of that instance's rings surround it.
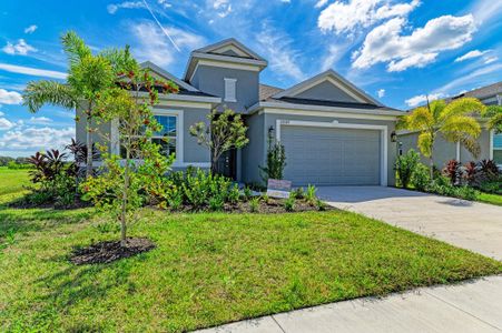
<svg viewBox="0 0 502 333">
<path fill-rule="evenodd" d="M 78 249 L 70 261 L 77 265 L 110 263 L 155 249 L 155 244 L 148 239 L 127 239 L 126 243 L 126 246 L 120 246 L 120 241 L 109 241 Z"/>
</svg>

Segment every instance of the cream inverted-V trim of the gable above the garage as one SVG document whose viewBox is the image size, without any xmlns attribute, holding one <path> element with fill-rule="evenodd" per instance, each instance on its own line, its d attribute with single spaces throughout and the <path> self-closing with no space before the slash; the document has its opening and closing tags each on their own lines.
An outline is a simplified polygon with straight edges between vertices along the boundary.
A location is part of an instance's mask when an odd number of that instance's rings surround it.
<svg viewBox="0 0 502 333">
<path fill-rule="evenodd" d="M 355 87 L 354 84 L 348 82 L 346 79 L 344 79 L 342 75 L 339 75 L 337 72 L 335 72 L 332 69 L 329 69 L 325 72 L 322 72 L 311 79 L 307 79 L 289 89 L 280 91 L 280 92 L 274 94 L 273 98 L 274 99 L 283 99 L 283 98 L 293 98 L 294 99 L 297 94 L 299 94 L 313 87 L 316 87 L 321 83 L 324 83 L 326 81 L 328 81 L 336 88 L 341 89 L 342 91 L 344 91 L 345 93 L 347 93 L 348 95 L 354 98 L 354 100 L 356 100 L 360 103 L 373 104 L 376 107 L 384 107 L 381 102 L 378 102 L 377 100 L 375 100 L 374 98 L 368 95 L 366 92 L 364 92 L 363 90 L 358 89 L 357 87 Z"/>
</svg>

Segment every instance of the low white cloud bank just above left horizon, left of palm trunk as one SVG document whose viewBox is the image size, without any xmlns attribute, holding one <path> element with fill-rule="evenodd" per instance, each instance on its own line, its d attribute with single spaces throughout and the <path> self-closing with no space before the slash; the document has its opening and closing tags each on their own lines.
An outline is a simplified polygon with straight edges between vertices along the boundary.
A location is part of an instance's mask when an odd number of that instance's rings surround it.
<svg viewBox="0 0 502 333">
<path fill-rule="evenodd" d="M 62 149 L 75 137 L 75 128 L 26 128 L 14 129 L 0 137 L 3 150 L 47 150 Z"/>
</svg>

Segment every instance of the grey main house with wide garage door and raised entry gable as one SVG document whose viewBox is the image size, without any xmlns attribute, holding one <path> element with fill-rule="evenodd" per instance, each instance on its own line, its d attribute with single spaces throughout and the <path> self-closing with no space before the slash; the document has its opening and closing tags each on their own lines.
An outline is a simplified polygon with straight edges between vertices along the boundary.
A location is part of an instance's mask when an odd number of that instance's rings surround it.
<svg viewBox="0 0 502 333">
<path fill-rule="evenodd" d="M 154 109 L 164 125 L 158 139 L 173 139 L 166 149 L 176 153 L 176 169 L 210 167 L 209 152 L 188 129 L 207 121 L 211 109 L 227 105 L 242 113 L 248 127 L 249 144 L 228 152 L 218 165 L 237 181 L 262 182 L 258 167 L 265 165 L 273 139 L 285 145 L 285 179 L 294 185 L 395 183 L 396 143 L 391 138 L 402 112 L 384 107 L 332 70 L 286 90 L 260 84 L 267 61 L 235 39 L 193 51 L 183 79 L 151 62 L 144 65 L 180 87 L 179 94 L 160 95 Z M 118 152 L 114 123 L 101 131 L 110 133 L 111 149 Z M 80 122 L 77 139 L 85 141 Z"/>
</svg>

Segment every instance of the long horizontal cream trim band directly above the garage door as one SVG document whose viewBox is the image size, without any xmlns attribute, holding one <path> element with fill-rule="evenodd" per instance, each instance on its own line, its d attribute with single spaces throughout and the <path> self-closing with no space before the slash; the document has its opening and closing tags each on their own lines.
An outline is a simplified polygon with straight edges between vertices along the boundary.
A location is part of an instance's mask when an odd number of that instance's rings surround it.
<svg viewBox="0 0 502 333">
<path fill-rule="evenodd" d="M 392 114 L 378 114 L 376 112 L 360 112 L 358 109 L 342 109 L 342 108 L 331 108 L 333 111 L 304 111 L 304 110 L 292 110 L 292 109 L 263 109 L 258 114 L 295 114 L 295 115 L 309 115 L 309 117 L 334 117 L 334 118 L 347 118 L 347 119 L 367 119 L 367 120 L 383 120 L 383 121 L 395 121 L 396 115 Z M 367 110 L 364 110 L 367 111 Z"/>
</svg>

